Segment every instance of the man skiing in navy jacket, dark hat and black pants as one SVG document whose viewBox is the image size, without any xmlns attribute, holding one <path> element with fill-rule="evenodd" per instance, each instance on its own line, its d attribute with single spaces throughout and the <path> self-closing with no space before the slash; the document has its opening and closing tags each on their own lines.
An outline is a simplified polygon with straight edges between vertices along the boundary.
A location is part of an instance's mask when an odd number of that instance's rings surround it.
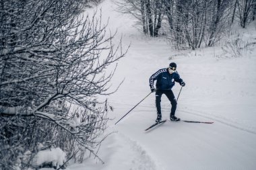
<svg viewBox="0 0 256 170">
<path fill-rule="evenodd" d="M 183 79 L 181 79 L 176 69 L 177 69 L 176 63 L 171 62 L 167 69 L 160 69 L 150 77 L 150 89 L 152 93 L 156 91 L 156 110 L 157 110 L 156 122 L 160 122 L 162 120 L 161 104 L 160 104 L 162 94 L 165 94 L 166 97 L 168 97 L 172 105 L 172 108 L 170 111 L 170 120 L 172 121 L 181 120 L 180 118 L 177 118 L 175 116 L 177 101 L 172 92 L 172 87 L 174 86 L 175 81 L 178 82 L 182 87 L 185 86 L 185 82 L 183 81 Z M 154 87 L 155 80 L 156 80 L 156 89 Z"/>
</svg>

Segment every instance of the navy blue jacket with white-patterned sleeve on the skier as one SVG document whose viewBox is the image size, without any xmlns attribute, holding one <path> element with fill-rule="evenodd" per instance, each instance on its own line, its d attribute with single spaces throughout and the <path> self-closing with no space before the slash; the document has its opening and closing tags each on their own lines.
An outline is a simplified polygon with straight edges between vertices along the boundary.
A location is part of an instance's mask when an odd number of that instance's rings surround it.
<svg viewBox="0 0 256 170">
<path fill-rule="evenodd" d="M 155 80 L 156 89 L 158 90 L 170 90 L 174 86 L 175 81 L 180 84 L 183 82 L 177 71 L 170 74 L 168 69 L 160 69 L 150 77 L 150 89 L 154 87 Z"/>
</svg>

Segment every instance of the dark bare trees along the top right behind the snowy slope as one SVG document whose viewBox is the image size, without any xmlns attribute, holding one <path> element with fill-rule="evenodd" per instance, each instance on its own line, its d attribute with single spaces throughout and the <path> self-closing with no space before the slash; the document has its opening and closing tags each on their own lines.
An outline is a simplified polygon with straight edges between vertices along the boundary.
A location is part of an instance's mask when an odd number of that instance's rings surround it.
<svg viewBox="0 0 256 170">
<path fill-rule="evenodd" d="M 143 33 L 165 36 L 178 49 L 214 46 L 236 19 L 245 28 L 256 16 L 255 0 L 122 0 L 122 13 L 138 19 Z"/>
</svg>

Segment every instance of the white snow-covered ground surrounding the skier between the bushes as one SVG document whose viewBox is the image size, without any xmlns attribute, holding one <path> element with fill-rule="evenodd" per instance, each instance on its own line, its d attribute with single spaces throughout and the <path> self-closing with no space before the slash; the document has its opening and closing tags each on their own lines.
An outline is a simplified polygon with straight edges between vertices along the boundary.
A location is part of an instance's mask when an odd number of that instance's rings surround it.
<svg viewBox="0 0 256 170">
<path fill-rule="evenodd" d="M 114 107 L 108 122 L 110 134 L 102 142 L 98 155 L 105 162 L 88 157 L 82 164 L 71 164 L 68 170 L 164 170 L 164 169 L 256 169 L 256 50 L 255 45 L 232 57 L 221 46 L 191 51 L 175 51 L 163 38 L 143 36 L 133 28 L 134 20 L 115 11 L 115 4 L 104 1 L 102 20 L 111 32 L 118 30 L 115 43 L 131 47 L 119 60 L 113 77 L 113 89 L 125 81 L 108 100 Z M 235 29 L 237 28 L 237 29 Z M 247 29 L 233 28 L 233 36 L 256 42 L 256 22 Z M 239 36 L 238 36 L 239 33 Z M 225 39 L 223 40 L 225 41 Z M 177 63 L 185 81 L 179 96 L 176 116 L 181 120 L 210 121 L 214 124 L 170 122 L 145 132 L 154 124 L 156 108 L 151 94 L 121 122 L 143 97 L 150 93 L 149 78 Z M 181 86 L 177 83 L 174 94 Z M 162 96 L 162 118 L 168 119 L 170 102 Z"/>
</svg>

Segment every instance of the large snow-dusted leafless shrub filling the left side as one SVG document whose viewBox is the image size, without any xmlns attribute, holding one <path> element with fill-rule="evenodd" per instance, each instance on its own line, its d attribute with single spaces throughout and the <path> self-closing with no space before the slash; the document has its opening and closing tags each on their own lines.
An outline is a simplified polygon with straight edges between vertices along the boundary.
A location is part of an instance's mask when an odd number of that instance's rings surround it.
<svg viewBox="0 0 256 170">
<path fill-rule="evenodd" d="M 106 69 L 125 53 L 100 18 L 81 15 L 86 5 L 1 1 L 0 169 L 30 167 L 38 144 L 97 157 L 110 109 L 97 97 L 115 92 L 108 91 L 115 70 Z"/>
</svg>

